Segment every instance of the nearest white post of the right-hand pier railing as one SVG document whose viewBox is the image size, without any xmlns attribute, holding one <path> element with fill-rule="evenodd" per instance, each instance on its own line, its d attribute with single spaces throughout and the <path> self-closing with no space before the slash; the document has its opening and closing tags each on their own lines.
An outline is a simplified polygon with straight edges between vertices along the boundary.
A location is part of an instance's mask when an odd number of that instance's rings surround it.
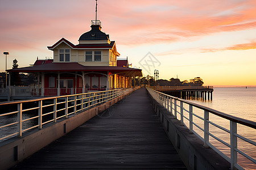
<svg viewBox="0 0 256 170">
<path fill-rule="evenodd" d="M 230 121 L 230 159 L 231 159 L 231 169 L 236 169 L 235 165 L 237 164 L 237 151 L 235 148 L 237 148 L 237 123 Z"/>
</svg>

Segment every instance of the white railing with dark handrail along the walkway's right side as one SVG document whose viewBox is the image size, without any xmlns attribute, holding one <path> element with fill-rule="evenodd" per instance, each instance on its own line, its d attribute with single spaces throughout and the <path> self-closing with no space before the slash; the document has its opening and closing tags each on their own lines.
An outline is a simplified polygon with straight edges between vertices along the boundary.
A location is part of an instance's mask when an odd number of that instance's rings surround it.
<svg viewBox="0 0 256 170">
<path fill-rule="evenodd" d="M 158 101 L 159 104 L 163 105 L 170 114 L 174 115 L 175 118 L 180 120 L 180 124 L 186 126 L 191 133 L 195 134 L 204 142 L 204 147 L 210 147 L 214 151 L 216 151 L 219 155 L 221 155 L 224 159 L 228 160 L 231 165 L 231 169 L 243 169 L 237 162 L 237 154 L 243 155 L 246 159 L 250 160 L 254 164 L 256 163 L 255 159 L 251 156 L 247 155 L 245 152 L 241 151 L 238 146 L 238 139 L 241 139 L 244 142 L 250 143 L 251 145 L 256 146 L 256 142 L 243 137 L 242 135 L 238 134 L 237 124 L 244 125 L 248 128 L 256 129 L 256 122 L 245 120 L 243 118 L 238 118 L 235 116 L 231 116 L 229 114 L 225 114 L 214 109 L 204 107 L 203 105 L 192 103 L 188 100 L 179 99 L 177 97 L 173 97 L 170 95 L 163 94 L 162 92 L 152 90 L 151 88 L 147 87 L 148 92 L 150 95 Z M 195 113 L 196 111 L 203 112 L 203 116 L 200 114 Z M 187 114 L 186 114 L 187 113 Z M 217 122 L 213 122 L 210 120 L 211 115 L 214 114 L 220 119 L 225 119 L 229 121 L 229 129 L 218 125 Z M 179 116 L 178 116 L 179 115 Z M 203 123 L 200 124 L 196 123 L 195 120 L 201 120 Z M 185 124 L 185 121 L 188 124 Z M 225 131 L 230 135 L 229 141 L 226 142 L 223 139 L 218 138 L 216 135 L 212 134 L 212 129 L 210 127 L 216 127 L 220 131 Z M 203 135 L 200 135 L 195 131 L 195 128 L 203 131 Z M 230 156 L 227 156 L 222 151 L 220 151 L 217 147 L 213 146 L 212 143 L 209 142 L 209 137 L 216 139 L 218 142 L 228 146 L 230 148 Z"/>
</svg>

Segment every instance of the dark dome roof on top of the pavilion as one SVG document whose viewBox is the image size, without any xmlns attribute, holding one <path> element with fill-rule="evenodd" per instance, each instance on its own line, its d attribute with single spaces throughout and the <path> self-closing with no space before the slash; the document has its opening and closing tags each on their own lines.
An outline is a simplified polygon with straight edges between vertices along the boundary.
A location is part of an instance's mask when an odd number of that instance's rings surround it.
<svg viewBox="0 0 256 170">
<path fill-rule="evenodd" d="M 108 35 L 102 32 L 100 25 L 92 25 L 92 30 L 85 32 L 79 38 L 80 40 L 109 40 Z"/>
</svg>

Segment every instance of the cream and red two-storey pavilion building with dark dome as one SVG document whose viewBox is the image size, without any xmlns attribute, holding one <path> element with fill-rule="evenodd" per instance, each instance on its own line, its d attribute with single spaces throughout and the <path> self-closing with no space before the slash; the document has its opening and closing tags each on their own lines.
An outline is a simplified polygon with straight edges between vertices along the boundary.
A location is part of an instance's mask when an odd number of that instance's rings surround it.
<svg viewBox="0 0 256 170">
<path fill-rule="evenodd" d="M 100 20 L 92 20 L 90 27 L 90 31 L 80 36 L 77 45 L 62 38 L 48 46 L 53 51 L 53 59 L 38 59 L 33 66 L 7 71 L 38 75 L 40 96 L 132 87 L 131 80 L 142 76 L 142 70 L 130 68 L 128 61 L 118 66 L 117 46 L 101 31 Z"/>
</svg>

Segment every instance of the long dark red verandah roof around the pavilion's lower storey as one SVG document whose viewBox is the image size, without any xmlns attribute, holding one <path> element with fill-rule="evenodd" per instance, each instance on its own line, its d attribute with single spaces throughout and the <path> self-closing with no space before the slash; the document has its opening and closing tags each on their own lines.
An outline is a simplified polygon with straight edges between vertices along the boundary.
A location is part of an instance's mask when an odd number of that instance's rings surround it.
<svg viewBox="0 0 256 170">
<path fill-rule="evenodd" d="M 133 69 L 118 66 L 84 66 L 77 62 L 52 62 L 45 65 L 35 65 L 10 69 L 8 72 L 35 73 L 35 72 L 56 72 L 56 71 L 110 71 L 113 73 L 133 73 L 135 76 L 142 76 L 141 69 Z"/>
</svg>

